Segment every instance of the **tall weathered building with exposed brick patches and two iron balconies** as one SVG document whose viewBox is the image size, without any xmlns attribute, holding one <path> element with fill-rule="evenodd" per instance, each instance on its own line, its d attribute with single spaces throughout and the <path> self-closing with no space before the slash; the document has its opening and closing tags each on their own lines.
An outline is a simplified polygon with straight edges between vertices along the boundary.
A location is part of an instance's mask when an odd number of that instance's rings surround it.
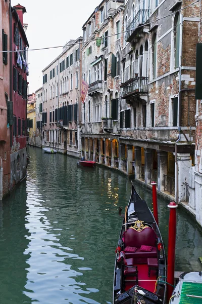
<svg viewBox="0 0 202 304">
<path fill-rule="evenodd" d="M 189 4 L 128 0 L 121 58 L 130 124 L 126 128 L 125 116 L 120 143 L 134 151 L 135 178 L 145 184 L 155 180 L 158 191 L 177 202 L 187 200 L 194 164 L 199 6 L 180 10 Z"/>
</svg>

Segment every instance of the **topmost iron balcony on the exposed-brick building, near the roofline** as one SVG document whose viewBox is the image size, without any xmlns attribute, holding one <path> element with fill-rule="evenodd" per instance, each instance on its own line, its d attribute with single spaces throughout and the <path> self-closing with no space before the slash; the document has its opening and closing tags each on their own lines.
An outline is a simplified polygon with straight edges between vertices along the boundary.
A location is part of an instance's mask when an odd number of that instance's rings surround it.
<svg viewBox="0 0 202 304">
<path fill-rule="evenodd" d="M 131 42 L 137 32 L 137 28 L 140 25 L 143 25 L 146 23 L 149 17 L 149 10 L 140 9 L 130 25 L 126 28 L 126 35 L 125 35 L 125 41 Z M 141 28 L 141 27 L 140 27 Z"/>
</svg>

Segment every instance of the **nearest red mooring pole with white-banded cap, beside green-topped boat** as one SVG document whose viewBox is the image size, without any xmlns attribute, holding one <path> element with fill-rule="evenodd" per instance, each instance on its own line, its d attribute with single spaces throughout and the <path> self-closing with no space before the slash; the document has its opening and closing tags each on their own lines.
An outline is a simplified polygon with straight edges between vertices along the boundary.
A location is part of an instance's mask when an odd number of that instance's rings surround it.
<svg viewBox="0 0 202 304">
<path fill-rule="evenodd" d="M 169 227 L 168 227 L 168 274 L 167 274 L 167 300 L 169 302 L 173 292 L 174 275 L 175 275 L 175 242 L 176 242 L 176 208 L 177 204 L 171 202 L 168 205 L 170 208 Z M 172 286 L 171 286 L 171 285 Z"/>
</svg>

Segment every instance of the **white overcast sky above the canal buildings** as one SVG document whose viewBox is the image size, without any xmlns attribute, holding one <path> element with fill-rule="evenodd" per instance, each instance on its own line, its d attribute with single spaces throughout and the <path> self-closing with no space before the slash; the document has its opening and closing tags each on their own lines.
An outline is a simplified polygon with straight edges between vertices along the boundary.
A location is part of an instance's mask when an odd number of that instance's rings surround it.
<svg viewBox="0 0 202 304">
<path fill-rule="evenodd" d="M 24 23 L 29 49 L 63 46 L 82 36 L 81 27 L 102 0 L 12 0 L 12 6 L 26 8 Z M 29 94 L 42 87 L 42 69 L 51 63 L 62 48 L 29 51 Z"/>
</svg>

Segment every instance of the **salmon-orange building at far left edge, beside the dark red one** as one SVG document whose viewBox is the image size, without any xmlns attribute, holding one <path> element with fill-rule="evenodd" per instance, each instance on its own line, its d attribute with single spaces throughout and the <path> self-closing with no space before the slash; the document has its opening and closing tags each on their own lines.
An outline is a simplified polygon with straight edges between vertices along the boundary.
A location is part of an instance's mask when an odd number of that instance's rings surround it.
<svg viewBox="0 0 202 304">
<path fill-rule="evenodd" d="M 1 50 L 10 50 L 9 2 L 0 4 Z M 10 125 L 13 105 L 10 91 L 10 53 L 0 53 L 0 200 L 10 191 Z"/>
</svg>

